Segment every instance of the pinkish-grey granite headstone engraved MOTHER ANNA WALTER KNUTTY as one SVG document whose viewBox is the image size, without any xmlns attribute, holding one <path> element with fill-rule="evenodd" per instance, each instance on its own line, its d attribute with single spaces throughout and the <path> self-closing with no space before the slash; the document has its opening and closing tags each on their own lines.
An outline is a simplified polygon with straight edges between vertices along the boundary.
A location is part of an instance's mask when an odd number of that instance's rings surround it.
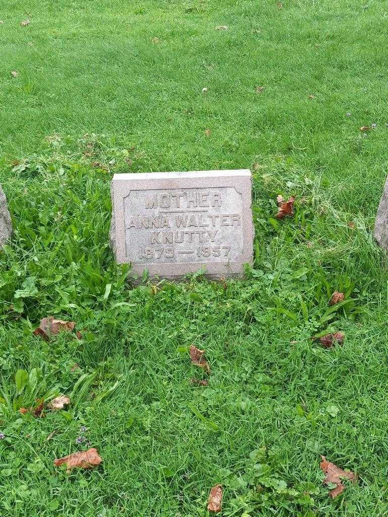
<svg viewBox="0 0 388 517">
<path fill-rule="evenodd" d="M 116 261 L 139 275 L 241 277 L 252 260 L 249 170 L 115 174 L 111 194 Z"/>
</svg>

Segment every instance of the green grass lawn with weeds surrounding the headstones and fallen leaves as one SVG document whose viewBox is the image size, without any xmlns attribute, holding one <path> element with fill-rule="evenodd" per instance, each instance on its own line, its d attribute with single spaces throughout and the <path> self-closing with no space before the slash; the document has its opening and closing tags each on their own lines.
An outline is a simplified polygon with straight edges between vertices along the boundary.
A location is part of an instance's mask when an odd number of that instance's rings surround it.
<svg viewBox="0 0 388 517">
<path fill-rule="evenodd" d="M 0 19 L 0 515 L 200 517 L 216 483 L 225 517 L 386 515 L 388 2 L 26 0 Z M 254 178 L 246 279 L 132 288 L 112 173 L 233 168 Z M 81 339 L 34 336 L 47 315 Z M 72 405 L 19 413 L 47 392 Z M 99 468 L 54 467 L 88 443 Z M 334 500 L 321 454 L 358 477 Z"/>
</svg>

